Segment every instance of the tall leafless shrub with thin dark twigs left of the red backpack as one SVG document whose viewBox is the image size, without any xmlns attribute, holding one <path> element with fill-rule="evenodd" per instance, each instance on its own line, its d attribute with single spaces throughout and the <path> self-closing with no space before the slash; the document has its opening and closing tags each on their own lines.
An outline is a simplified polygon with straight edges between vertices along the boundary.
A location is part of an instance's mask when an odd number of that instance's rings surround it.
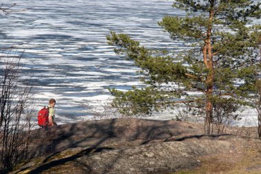
<svg viewBox="0 0 261 174">
<path fill-rule="evenodd" d="M 30 80 L 22 73 L 21 55 L 3 54 L 0 60 L 0 169 L 9 171 L 28 155 L 33 96 Z"/>
</svg>

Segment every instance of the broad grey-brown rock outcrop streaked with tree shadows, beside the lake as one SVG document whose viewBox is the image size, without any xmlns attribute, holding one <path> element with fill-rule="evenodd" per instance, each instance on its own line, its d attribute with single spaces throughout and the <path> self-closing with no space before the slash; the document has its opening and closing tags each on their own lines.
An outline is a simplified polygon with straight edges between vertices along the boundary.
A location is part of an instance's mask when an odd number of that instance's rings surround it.
<svg viewBox="0 0 261 174">
<path fill-rule="evenodd" d="M 14 173 L 261 172 L 260 139 L 205 136 L 203 125 L 196 123 L 109 119 L 38 129 L 33 134 L 33 159 Z M 241 164 L 244 160 L 247 164 Z"/>
</svg>

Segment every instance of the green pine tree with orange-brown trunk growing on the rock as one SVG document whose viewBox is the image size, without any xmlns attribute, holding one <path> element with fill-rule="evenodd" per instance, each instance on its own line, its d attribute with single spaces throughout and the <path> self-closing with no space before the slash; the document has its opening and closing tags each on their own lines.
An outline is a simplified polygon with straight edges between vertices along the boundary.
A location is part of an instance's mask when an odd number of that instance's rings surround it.
<svg viewBox="0 0 261 174">
<path fill-rule="evenodd" d="M 115 53 L 126 53 L 134 60 L 146 84 L 128 92 L 111 89 L 113 105 L 131 115 L 189 103 L 205 112 L 205 134 L 211 134 L 216 115 L 236 112 L 256 90 L 261 25 L 253 25 L 251 20 L 260 18 L 260 4 L 251 0 L 176 0 L 172 6 L 185 10 L 187 16 L 165 16 L 159 25 L 173 40 L 189 45 L 188 51 L 178 55 L 146 49 L 126 34 L 111 32 L 107 39 L 117 46 Z M 203 95 L 179 99 L 189 90 Z"/>
</svg>

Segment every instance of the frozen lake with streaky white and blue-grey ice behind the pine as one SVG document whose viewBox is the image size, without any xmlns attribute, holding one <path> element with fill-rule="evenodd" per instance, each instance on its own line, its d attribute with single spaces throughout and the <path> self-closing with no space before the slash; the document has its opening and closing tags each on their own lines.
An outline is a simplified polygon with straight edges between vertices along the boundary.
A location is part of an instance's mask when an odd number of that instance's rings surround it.
<svg viewBox="0 0 261 174">
<path fill-rule="evenodd" d="M 24 70 L 34 79 L 36 106 L 56 99 L 56 121 L 87 119 L 82 104 L 98 105 L 111 97 L 107 88 L 141 86 L 133 62 L 115 55 L 106 36 L 113 30 L 130 34 L 146 47 L 183 50 L 157 25 L 165 15 L 185 15 L 164 0 L 16 0 L 14 10 L 1 15 L 1 49 L 25 51 Z M 253 114 L 251 112 L 251 114 Z M 250 115 L 251 115 L 250 114 Z M 161 115 L 155 119 L 171 119 Z"/>
</svg>

